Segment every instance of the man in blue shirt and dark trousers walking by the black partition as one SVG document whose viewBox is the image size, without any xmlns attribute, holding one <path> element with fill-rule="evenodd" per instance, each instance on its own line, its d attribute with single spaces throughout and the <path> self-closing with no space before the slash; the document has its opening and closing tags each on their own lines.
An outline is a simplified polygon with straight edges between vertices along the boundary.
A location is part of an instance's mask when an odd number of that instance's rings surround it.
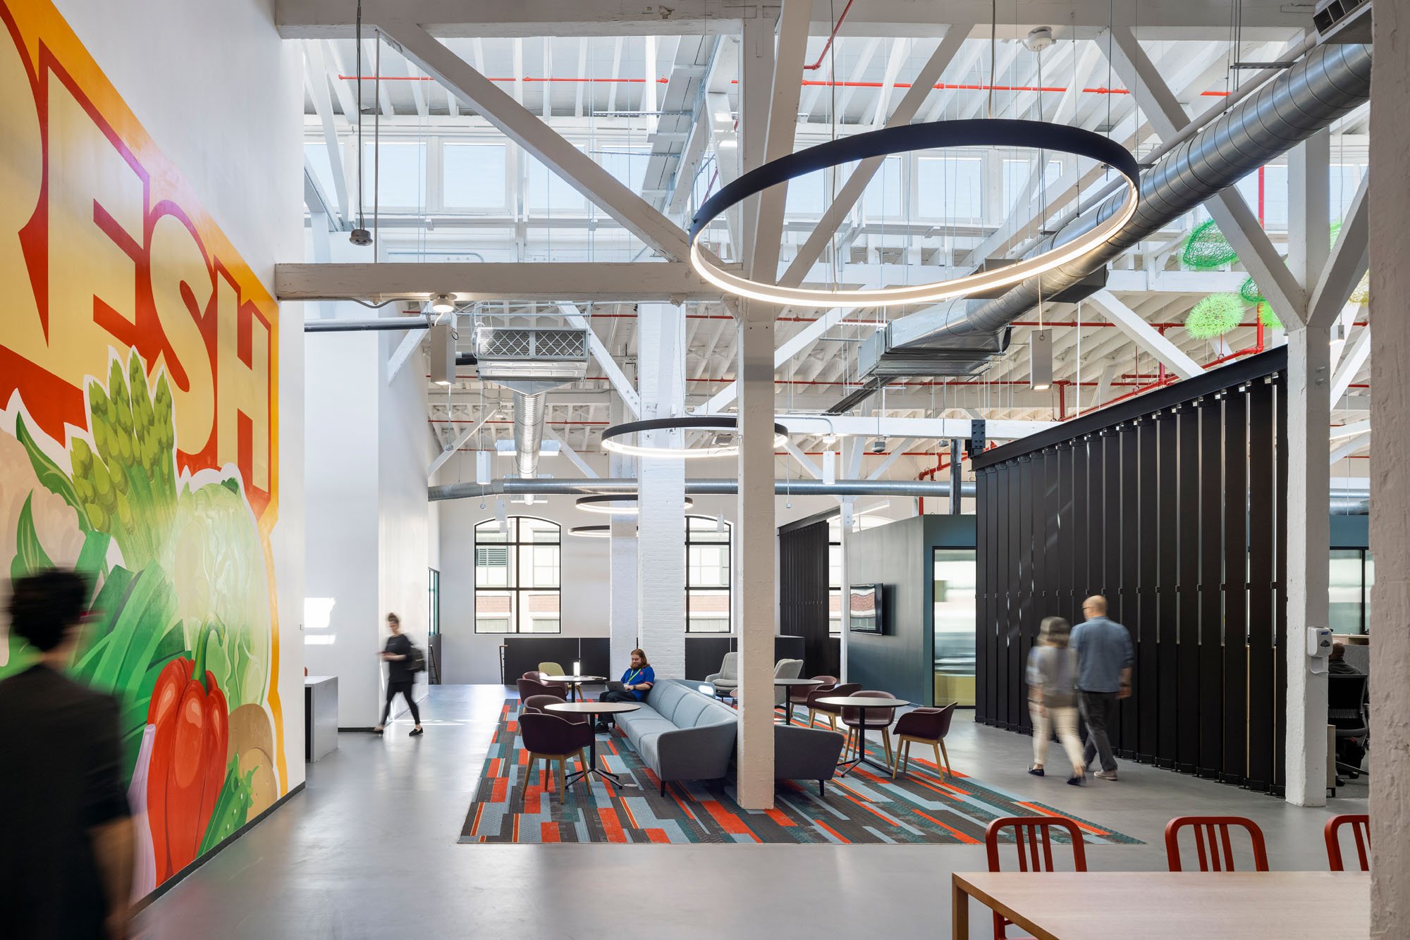
<svg viewBox="0 0 1410 940">
<path fill-rule="evenodd" d="M 1083 761 L 1091 764 L 1101 757 L 1098 779 L 1117 779 L 1117 760 L 1111 755 L 1107 727 L 1117 719 L 1117 702 L 1131 696 L 1131 664 L 1135 651 L 1131 634 L 1120 623 L 1107 620 L 1107 599 L 1093 595 L 1081 602 L 1086 617 L 1072 631 L 1072 648 L 1077 651 L 1077 707 L 1087 723 L 1087 746 Z"/>
</svg>

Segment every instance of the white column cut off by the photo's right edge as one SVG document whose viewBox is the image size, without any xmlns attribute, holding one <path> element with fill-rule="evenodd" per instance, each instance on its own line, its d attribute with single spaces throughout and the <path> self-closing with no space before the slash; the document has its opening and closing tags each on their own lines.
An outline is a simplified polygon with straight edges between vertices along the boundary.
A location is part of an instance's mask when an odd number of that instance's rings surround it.
<svg viewBox="0 0 1410 940">
<path fill-rule="evenodd" d="M 1400 27 L 1406 27 L 1406 32 Z M 1371 357 L 1371 936 L 1404 936 L 1410 923 L 1410 319 L 1402 310 L 1410 268 L 1402 245 L 1410 217 L 1410 10 L 1387 3 L 1376 10 L 1376 58 L 1371 66 L 1371 314 L 1376 347 Z"/>
</svg>

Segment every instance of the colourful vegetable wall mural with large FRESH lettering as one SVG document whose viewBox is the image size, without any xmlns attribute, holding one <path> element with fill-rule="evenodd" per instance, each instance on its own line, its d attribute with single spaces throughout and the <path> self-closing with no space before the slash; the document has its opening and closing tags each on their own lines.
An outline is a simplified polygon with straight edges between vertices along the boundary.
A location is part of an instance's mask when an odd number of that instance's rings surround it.
<svg viewBox="0 0 1410 940">
<path fill-rule="evenodd" d="M 70 672 L 121 703 L 141 896 L 289 789 L 278 306 L 59 13 L 0 21 L 0 598 L 92 579 Z"/>
</svg>

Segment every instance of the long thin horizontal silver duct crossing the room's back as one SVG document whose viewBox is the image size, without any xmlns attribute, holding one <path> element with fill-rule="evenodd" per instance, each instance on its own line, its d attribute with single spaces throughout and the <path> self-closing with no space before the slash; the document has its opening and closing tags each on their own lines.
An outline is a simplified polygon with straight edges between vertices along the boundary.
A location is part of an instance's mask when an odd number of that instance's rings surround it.
<svg viewBox="0 0 1410 940">
<path fill-rule="evenodd" d="M 634 479 L 496 479 L 489 483 L 448 483 L 431 486 L 429 499 L 472 499 L 481 496 L 594 496 L 636 493 Z M 737 479 L 687 479 L 688 496 L 733 496 Z M 950 495 L 950 485 L 916 479 L 776 479 L 774 492 L 791 496 L 931 496 Z M 960 486 L 960 496 L 974 496 L 974 483 Z"/>
</svg>

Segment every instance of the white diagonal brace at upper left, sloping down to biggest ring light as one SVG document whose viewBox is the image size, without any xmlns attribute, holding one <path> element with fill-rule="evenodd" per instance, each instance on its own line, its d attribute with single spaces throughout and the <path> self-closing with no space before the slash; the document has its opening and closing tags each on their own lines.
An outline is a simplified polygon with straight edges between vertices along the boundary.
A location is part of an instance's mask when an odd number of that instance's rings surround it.
<svg viewBox="0 0 1410 940">
<path fill-rule="evenodd" d="M 378 24 L 407 59 L 447 89 L 475 106 L 485 120 L 509 140 L 558 173 L 568 185 L 612 216 L 650 248 L 673 261 L 685 261 L 688 247 L 680 225 L 616 180 L 589 155 L 564 140 L 533 113 L 468 62 L 443 45 L 420 24 L 388 20 Z"/>
</svg>

